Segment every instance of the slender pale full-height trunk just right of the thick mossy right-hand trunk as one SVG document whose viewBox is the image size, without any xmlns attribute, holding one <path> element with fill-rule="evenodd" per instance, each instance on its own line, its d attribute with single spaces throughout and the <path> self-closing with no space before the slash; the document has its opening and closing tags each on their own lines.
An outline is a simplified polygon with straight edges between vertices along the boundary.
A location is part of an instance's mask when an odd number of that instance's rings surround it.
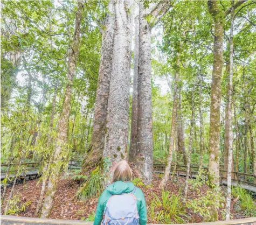
<svg viewBox="0 0 256 225">
<path fill-rule="evenodd" d="M 231 178 L 232 178 L 232 159 L 233 159 L 233 131 L 232 131 L 232 88 L 233 88 L 233 29 L 234 29 L 234 1 L 232 1 L 231 9 L 231 27 L 230 27 L 230 70 L 229 85 L 227 89 L 227 105 L 226 105 L 226 124 L 225 124 L 225 151 L 229 153 L 227 165 L 227 202 L 226 202 L 226 220 L 230 219 L 230 203 L 231 203 Z"/>
</svg>

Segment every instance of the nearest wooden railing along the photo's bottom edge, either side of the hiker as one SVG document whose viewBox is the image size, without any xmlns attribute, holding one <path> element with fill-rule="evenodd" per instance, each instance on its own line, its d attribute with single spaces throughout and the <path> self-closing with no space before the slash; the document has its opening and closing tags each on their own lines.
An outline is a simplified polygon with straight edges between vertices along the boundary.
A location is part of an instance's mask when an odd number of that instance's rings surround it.
<svg viewBox="0 0 256 225">
<path fill-rule="evenodd" d="M 80 220 L 54 220 L 54 219 L 40 219 L 40 218 L 31 218 L 31 217 L 22 217 L 22 216 L 1 216 L 1 224 L 3 225 L 39 225 L 39 224 L 65 224 L 65 225 L 73 225 L 73 224 L 84 224 L 84 225 L 92 225 L 93 222 L 88 221 L 80 221 Z M 256 225 L 256 217 L 239 219 L 239 220 L 229 220 L 229 221 L 218 221 L 218 222 L 209 222 L 209 223 L 183 223 L 180 225 Z M 153 224 L 151 224 L 153 225 Z M 171 225 L 171 224 L 170 224 Z"/>
</svg>

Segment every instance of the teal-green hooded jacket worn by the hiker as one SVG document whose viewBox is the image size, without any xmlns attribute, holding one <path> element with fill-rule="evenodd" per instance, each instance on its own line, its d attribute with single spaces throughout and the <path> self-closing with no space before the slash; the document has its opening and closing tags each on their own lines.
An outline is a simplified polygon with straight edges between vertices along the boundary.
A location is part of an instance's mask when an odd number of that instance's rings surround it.
<svg viewBox="0 0 256 225">
<path fill-rule="evenodd" d="M 100 195 L 98 206 L 96 209 L 96 215 L 93 225 L 100 225 L 103 219 L 103 213 L 107 205 L 107 201 L 110 196 L 115 194 L 130 193 L 135 188 L 133 182 L 116 181 L 110 184 Z M 147 207 L 144 194 L 139 187 L 136 187 L 134 195 L 137 199 L 137 209 L 140 216 L 140 225 L 147 224 Z"/>
</svg>

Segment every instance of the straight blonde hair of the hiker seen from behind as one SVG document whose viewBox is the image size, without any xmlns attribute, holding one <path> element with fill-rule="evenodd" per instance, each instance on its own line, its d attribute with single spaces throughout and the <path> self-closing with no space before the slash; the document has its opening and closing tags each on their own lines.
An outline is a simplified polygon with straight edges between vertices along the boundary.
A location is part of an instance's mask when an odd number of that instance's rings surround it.
<svg viewBox="0 0 256 225">
<path fill-rule="evenodd" d="M 122 160 L 116 164 L 112 183 L 115 181 L 131 181 L 132 170 L 126 160 Z"/>
</svg>

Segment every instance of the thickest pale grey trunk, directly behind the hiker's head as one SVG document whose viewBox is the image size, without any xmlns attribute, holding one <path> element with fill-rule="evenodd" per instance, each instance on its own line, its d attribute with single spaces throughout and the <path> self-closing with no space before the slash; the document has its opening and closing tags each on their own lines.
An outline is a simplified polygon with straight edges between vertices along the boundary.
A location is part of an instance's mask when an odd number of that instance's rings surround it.
<svg viewBox="0 0 256 225">
<path fill-rule="evenodd" d="M 132 4 L 133 1 L 117 1 L 114 4 L 112 73 L 103 150 L 103 157 L 112 161 L 109 175 L 112 175 L 117 162 L 127 158 L 128 152 Z"/>
</svg>

